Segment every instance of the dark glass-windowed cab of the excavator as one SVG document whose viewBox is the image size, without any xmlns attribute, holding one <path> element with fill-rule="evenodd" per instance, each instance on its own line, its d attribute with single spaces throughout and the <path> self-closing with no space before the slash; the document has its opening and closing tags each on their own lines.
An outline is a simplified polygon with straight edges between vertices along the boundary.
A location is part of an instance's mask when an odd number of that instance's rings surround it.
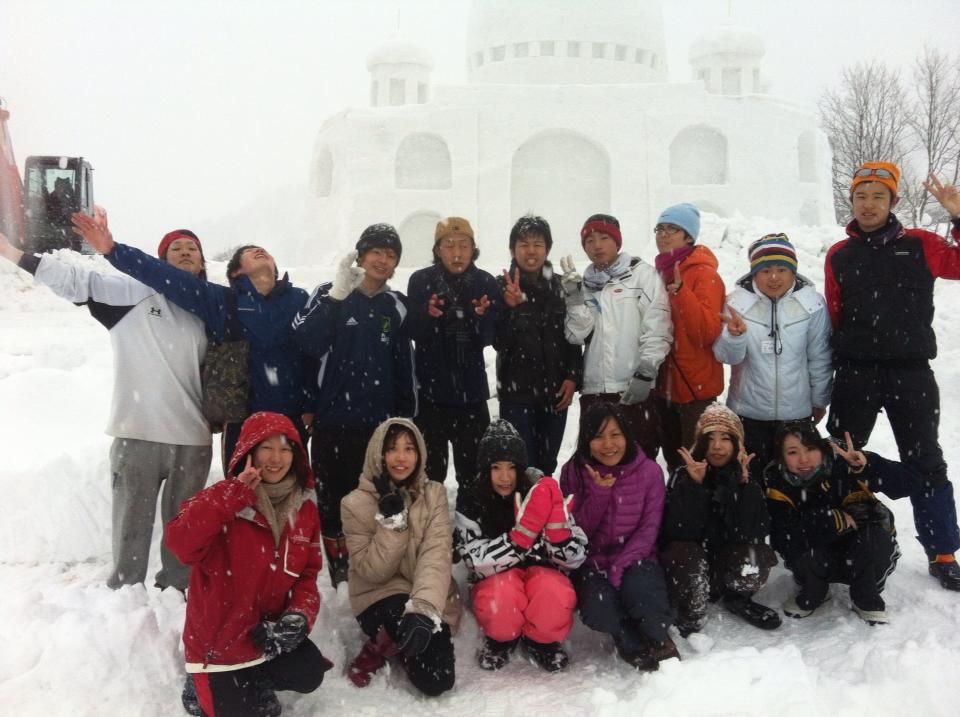
<svg viewBox="0 0 960 717">
<path fill-rule="evenodd" d="M 93 167 L 83 157 L 27 157 L 23 176 L 28 251 L 94 250 L 73 233 L 70 216 L 93 216 Z"/>
</svg>

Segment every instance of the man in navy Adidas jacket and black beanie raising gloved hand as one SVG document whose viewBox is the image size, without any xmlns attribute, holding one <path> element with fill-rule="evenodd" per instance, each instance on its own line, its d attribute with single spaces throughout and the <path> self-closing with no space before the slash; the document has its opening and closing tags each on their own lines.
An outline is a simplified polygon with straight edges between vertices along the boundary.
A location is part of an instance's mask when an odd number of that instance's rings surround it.
<svg viewBox="0 0 960 717">
<path fill-rule="evenodd" d="M 347 579 L 340 501 L 357 487 L 367 443 L 391 416 L 413 417 L 416 385 L 405 297 L 387 281 L 403 247 L 397 230 L 373 224 L 294 318 L 294 338 L 319 360 L 312 462 L 327 567 Z"/>
</svg>

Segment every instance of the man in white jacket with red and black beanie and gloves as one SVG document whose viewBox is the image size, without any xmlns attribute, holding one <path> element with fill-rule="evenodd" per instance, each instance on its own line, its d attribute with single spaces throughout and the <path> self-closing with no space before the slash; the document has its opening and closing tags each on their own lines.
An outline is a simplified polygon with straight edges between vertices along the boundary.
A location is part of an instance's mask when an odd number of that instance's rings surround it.
<svg viewBox="0 0 960 717">
<path fill-rule="evenodd" d="M 590 266 L 581 278 L 571 257 L 560 263 L 566 336 L 585 344 L 580 410 L 600 401 L 625 405 L 637 442 L 651 460 L 660 449 L 650 389 L 673 342 L 670 303 L 650 264 L 621 251 L 620 222 L 594 214 L 580 230 Z"/>
</svg>

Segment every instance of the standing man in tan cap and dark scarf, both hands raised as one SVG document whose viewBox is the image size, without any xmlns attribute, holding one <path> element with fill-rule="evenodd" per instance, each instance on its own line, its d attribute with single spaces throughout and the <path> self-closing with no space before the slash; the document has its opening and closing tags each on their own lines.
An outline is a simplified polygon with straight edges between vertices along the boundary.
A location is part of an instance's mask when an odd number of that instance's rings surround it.
<svg viewBox="0 0 960 717">
<path fill-rule="evenodd" d="M 427 444 L 427 477 L 447 476 L 453 444 L 458 501 L 477 472 L 477 446 L 490 423 L 483 348 L 493 343 L 500 287 L 477 268 L 470 222 L 437 222 L 433 265 L 410 276 L 410 329 L 416 343 L 417 428 Z"/>
</svg>

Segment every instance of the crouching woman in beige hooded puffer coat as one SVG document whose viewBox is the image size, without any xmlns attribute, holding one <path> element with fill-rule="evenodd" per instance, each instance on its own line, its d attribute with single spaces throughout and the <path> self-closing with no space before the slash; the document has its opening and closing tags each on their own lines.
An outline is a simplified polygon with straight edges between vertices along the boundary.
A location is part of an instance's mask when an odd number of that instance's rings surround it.
<svg viewBox="0 0 960 717">
<path fill-rule="evenodd" d="M 453 528 L 442 483 L 427 480 L 423 436 L 405 418 L 381 423 L 360 485 L 340 504 L 350 553 L 350 606 L 370 640 L 351 663 L 359 687 L 399 654 L 410 682 L 435 696 L 453 687 Z"/>
</svg>

